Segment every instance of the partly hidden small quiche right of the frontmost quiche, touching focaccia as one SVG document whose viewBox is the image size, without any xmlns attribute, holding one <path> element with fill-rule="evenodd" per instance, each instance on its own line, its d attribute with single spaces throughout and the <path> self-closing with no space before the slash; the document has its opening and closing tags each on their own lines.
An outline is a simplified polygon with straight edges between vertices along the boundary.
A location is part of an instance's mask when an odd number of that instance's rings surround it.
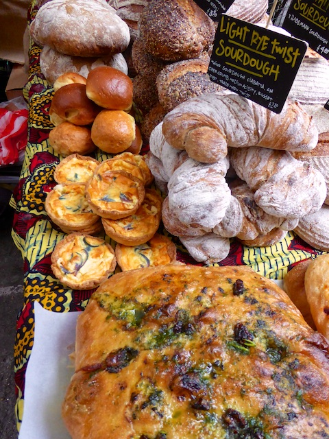
<svg viewBox="0 0 329 439">
<path fill-rule="evenodd" d="M 115 254 L 119 267 L 125 272 L 173 263 L 176 260 L 176 247 L 169 237 L 156 233 L 149 241 L 139 246 L 117 244 Z"/>
</svg>

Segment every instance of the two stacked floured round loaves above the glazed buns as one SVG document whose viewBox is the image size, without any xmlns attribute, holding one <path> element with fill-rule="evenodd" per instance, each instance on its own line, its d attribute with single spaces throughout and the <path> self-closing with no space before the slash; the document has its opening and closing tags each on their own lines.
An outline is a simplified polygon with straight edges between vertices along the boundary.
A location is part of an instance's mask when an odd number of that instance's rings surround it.
<svg viewBox="0 0 329 439">
<path fill-rule="evenodd" d="M 52 85 L 66 72 L 87 77 L 102 65 L 128 73 L 122 52 L 130 30 L 106 0 L 52 0 L 43 4 L 29 29 L 42 47 L 40 69 Z"/>
</svg>

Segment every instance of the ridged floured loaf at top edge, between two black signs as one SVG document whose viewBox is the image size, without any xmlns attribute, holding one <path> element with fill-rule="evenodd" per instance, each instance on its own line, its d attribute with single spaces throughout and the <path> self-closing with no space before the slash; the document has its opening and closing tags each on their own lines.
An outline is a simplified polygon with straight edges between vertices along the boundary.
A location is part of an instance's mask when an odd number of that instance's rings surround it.
<svg viewBox="0 0 329 439">
<path fill-rule="evenodd" d="M 249 23 L 259 23 L 263 21 L 268 8 L 267 0 L 235 0 L 226 14 Z"/>
</svg>

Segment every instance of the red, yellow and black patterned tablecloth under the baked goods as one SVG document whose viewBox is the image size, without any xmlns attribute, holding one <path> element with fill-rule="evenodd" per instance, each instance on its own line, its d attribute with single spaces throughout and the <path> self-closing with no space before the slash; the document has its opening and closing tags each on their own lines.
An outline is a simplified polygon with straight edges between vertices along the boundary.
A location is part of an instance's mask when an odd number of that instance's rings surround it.
<svg viewBox="0 0 329 439">
<path fill-rule="evenodd" d="M 35 3 L 33 0 L 29 8 L 29 23 L 36 14 Z M 31 41 L 29 81 L 24 89 L 25 100 L 29 104 L 28 143 L 19 186 L 11 200 L 15 210 L 12 237 L 21 250 L 25 267 L 24 302 L 17 321 L 14 351 L 18 429 L 23 416 L 25 370 L 34 341 L 34 300 L 54 312 L 80 311 L 94 291 L 75 291 L 64 287 L 50 268 L 51 252 L 64 233 L 51 223 L 45 211 L 45 199 L 55 185 L 53 172 L 60 156 L 48 143 L 49 130 L 53 128 L 49 120 L 53 88 L 42 76 L 39 56 L 40 47 Z M 143 152 L 146 151 L 147 147 Z M 95 158 L 103 161 L 108 156 L 98 151 Z M 160 232 L 168 235 L 166 230 Z M 196 265 L 178 238 L 171 239 L 178 248 L 178 259 Z M 115 246 L 115 243 L 111 244 Z M 244 247 L 232 239 L 230 254 L 220 265 L 250 265 L 264 276 L 281 279 L 291 265 L 320 253 L 292 232 L 280 243 L 266 248 Z"/>
</svg>

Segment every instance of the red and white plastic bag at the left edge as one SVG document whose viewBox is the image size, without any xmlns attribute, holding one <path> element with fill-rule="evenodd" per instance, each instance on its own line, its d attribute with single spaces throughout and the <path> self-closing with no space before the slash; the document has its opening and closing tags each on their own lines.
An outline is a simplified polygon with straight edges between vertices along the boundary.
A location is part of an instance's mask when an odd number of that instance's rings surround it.
<svg viewBox="0 0 329 439">
<path fill-rule="evenodd" d="M 27 104 L 23 97 L 0 103 L 0 166 L 23 161 L 27 145 Z"/>
</svg>

